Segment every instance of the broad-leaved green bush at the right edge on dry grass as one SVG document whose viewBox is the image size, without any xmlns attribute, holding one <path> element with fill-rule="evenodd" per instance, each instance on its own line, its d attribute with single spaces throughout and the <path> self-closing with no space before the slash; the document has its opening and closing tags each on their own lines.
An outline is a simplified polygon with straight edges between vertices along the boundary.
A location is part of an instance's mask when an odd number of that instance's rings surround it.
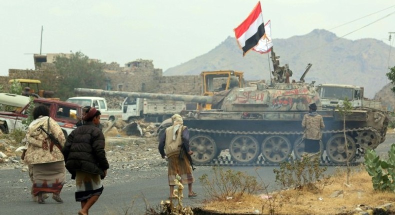
<svg viewBox="0 0 395 215">
<path fill-rule="evenodd" d="M 395 190 L 395 143 L 388 151 L 388 159 L 381 160 L 373 149 L 366 149 L 364 155 L 366 171 L 371 176 L 374 190 Z"/>
</svg>

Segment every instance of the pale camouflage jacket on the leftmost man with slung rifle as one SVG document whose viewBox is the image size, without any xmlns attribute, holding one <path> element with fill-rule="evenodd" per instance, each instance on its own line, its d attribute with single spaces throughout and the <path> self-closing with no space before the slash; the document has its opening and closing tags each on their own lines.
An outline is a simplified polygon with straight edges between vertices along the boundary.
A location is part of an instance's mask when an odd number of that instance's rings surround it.
<svg viewBox="0 0 395 215">
<path fill-rule="evenodd" d="M 64 160 L 63 154 L 56 146 L 53 146 L 51 150 L 49 148 L 47 150 L 42 149 L 42 142 L 46 140 L 46 144 L 49 146 L 50 140 L 48 135 L 46 135 L 41 129 L 38 129 L 38 127 L 42 125 L 45 130 L 48 130 L 47 120 L 48 116 L 39 117 L 32 121 L 27 128 L 27 133 L 24 138 L 24 141 L 26 141 L 26 144 L 28 144 L 26 155 L 23 160 L 25 164 L 47 163 Z M 60 145 L 63 147 L 66 140 L 60 126 L 55 120 L 49 118 L 49 127 L 50 133 L 56 137 Z"/>
</svg>

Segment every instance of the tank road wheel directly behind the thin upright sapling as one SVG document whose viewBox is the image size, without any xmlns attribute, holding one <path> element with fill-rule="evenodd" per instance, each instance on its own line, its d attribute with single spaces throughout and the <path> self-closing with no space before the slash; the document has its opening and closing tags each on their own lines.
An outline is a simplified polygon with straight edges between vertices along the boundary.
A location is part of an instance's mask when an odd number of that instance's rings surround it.
<svg viewBox="0 0 395 215">
<path fill-rule="evenodd" d="M 356 145 L 351 136 L 346 135 L 348 145 L 348 160 L 354 158 L 356 153 Z M 335 134 L 329 138 L 326 143 L 326 154 L 330 161 L 334 163 L 344 163 L 347 161 L 347 153 L 344 144 L 344 134 Z"/>
</svg>

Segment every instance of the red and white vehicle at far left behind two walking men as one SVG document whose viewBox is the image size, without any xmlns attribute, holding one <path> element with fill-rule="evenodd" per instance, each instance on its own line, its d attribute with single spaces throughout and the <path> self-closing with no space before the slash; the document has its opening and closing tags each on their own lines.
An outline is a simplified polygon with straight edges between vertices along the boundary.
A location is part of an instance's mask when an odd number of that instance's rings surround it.
<svg viewBox="0 0 395 215">
<path fill-rule="evenodd" d="M 78 115 L 81 114 L 81 106 L 78 104 L 52 100 L 46 98 L 34 98 L 34 105 L 46 105 L 49 107 L 49 115 L 63 130 L 65 137 L 75 129 Z M 4 107 L 12 107 L 13 110 L 5 110 Z M 0 93 L 0 130 L 8 133 L 14 128 L 25 129 L 22 120 L 29 114 L 29 98 L 23 95 Z"/>
</svg>

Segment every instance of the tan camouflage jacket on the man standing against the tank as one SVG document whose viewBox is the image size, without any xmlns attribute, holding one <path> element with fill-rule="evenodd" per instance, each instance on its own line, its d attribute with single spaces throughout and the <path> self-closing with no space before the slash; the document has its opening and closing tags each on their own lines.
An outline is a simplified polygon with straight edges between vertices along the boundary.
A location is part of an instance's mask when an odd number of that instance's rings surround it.
<svg viewBox="0 0 395 215">
<path fill-rule="evenodd" d="M 304 128 L 305 139 L 321 139 L 321 129 L 325 127 L 322 116 L 316 112 L 305 114 L 301 126 Z"/>
</svg>

